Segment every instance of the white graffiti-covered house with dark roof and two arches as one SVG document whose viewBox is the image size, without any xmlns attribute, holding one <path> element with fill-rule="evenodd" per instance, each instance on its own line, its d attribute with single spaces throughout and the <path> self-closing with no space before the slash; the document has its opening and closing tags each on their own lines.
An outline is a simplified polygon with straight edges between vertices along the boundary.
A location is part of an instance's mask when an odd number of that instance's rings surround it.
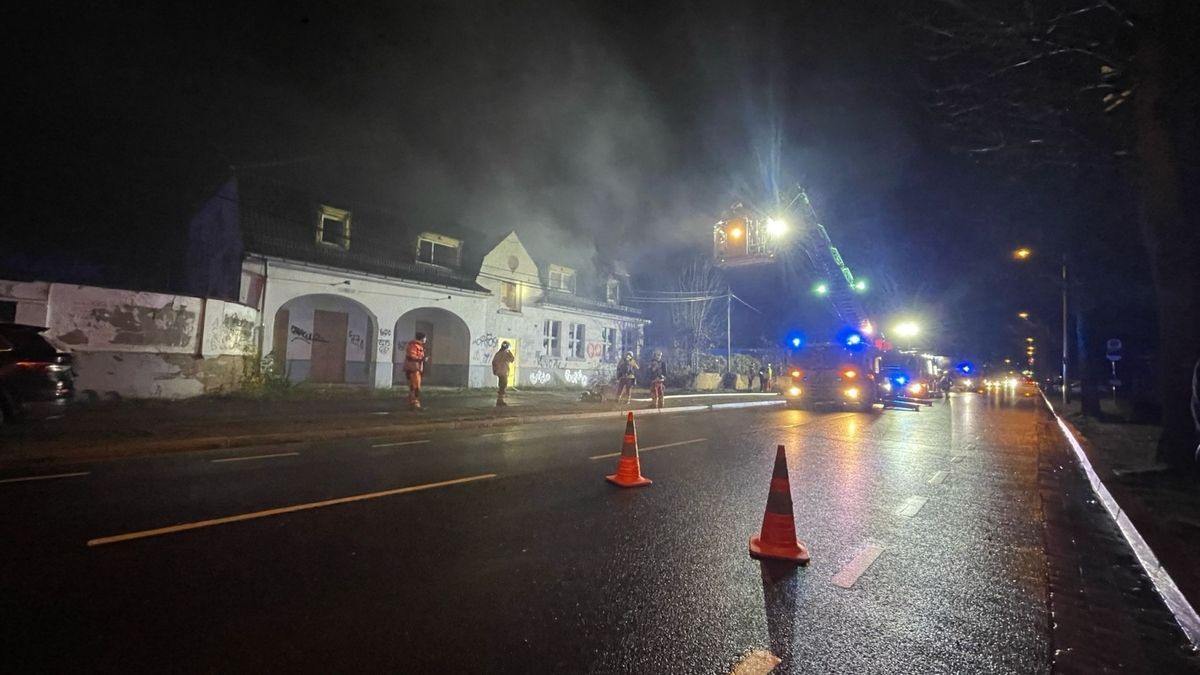
<svg viewBox="0 0 1200 675">
<path fill-rule="evenodd" d="M 508 341 L 518 386 L 584 387 L 638 351 L 648 319 L 622 303 L 618 263 L 569 262 L 535 259 L 515 228 L 487 237 L 239 177 L 191 220 L 186 277 L 192 294 L 257 307 L 259 351 L 294 382 L 402 383 L 421 331 L 428 384 L 491 384 Z"/>
</svg>

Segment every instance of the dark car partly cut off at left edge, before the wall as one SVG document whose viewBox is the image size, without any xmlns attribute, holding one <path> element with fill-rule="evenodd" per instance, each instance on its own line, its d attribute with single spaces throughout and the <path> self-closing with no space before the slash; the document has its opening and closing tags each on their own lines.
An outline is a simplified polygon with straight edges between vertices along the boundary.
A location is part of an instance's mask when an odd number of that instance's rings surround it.
<svg viewBox="0 0 1200 675">
<path fill-rule="evenodd" d="M 43 330 L 0 323 L 0 425 L 54 414 L 74 398 L 71 354 L 50 345 Z"/>
</svg>

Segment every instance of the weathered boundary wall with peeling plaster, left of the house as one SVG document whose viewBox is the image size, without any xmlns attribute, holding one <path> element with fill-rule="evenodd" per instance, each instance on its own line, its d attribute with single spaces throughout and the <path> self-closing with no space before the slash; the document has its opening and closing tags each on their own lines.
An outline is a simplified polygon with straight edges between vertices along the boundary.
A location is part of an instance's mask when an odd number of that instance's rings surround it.
<svg viewBox="0 0 1200 675">
<path fill-rule="evenodd" d="M 82 398 L 186 398 L 235 389 L 257 353 L 252 307 L 187 295 L 0 281 L 17 322 L 74 354 Z"/>
</svg>

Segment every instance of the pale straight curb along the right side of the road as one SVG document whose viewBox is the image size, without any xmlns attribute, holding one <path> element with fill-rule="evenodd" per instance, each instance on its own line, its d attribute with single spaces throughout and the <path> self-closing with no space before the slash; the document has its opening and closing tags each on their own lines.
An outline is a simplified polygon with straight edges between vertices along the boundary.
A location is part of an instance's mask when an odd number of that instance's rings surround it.
<svg viewBox="0 0 1200 675">
<path fill-rule="evenodd" d="M 1154 555 L 1150 544 L 1138 532 L 1133 521 L 1129 520 L 1129 515 L 1126 514 L 1121 504 L 1109 492 L 1108 486 L 1104 485 L 1104 480 L 1096 473 L 1096 468 L 1092 467 L 1092 462 L 1087 459 L 1087 453 L 1084 452 L 1084 446 L 1079 442 L 1079 438 L 1084 437 L 1084 435 L 1074 425 L 1058 416 L 1054 406 L 1050 405 L 1050 399 L 1046 398 L 1045 392 L 1042 392 L 1042 400 L 1045 401 L 1046 408 L 1049 408 L 1055 422 L 1058 423 L 1058 428 L 1062 429 L 1063 436 L 1067 437 L 1070 449 L 1074 450 L 1075 458 L 1084 467 L 1087 482 L 1092 485 L 1092 492 L 1104 504 L 1104 510 L 1108 512 L 1117 528 L 1121 530 L 1121 534 L 1124 536 L 1129 548 L 1133 549 L 1134 555 L 1138 557 L 1138 563 L 1141 565 L 1146 575 L 1150 577 L 1151 583 L 1154 584 L 1154 590 L 1162 596 L 1166 608 L 1175 616 L 1176 623 L 1180 625 L 1183 634 L 1192 643 L 1192 649 L 1200 649 L 1200 615 L 1196 614 L 1195 608 L 1192 607 L 1188 598 L 1180 591 L 1180 587 L 1175 584 L 1175 579 L 1171 579 L 1170 573 L 1166 572 L 1163 563 L 1158 561 L 1158 556 Z"/>
</svg>

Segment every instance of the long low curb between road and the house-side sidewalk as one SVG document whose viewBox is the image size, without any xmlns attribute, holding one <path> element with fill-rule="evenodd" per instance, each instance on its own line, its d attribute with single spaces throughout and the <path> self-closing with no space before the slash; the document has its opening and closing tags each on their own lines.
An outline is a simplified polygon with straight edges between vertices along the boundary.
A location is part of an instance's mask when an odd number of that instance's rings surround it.
<svg viewBox="0 0 1200 675">
<path fill-rule="evenodd" d="M 698 406 L 679 406 L 674 408 L 662 408 L 662 410 L 634 410 L 632 412 L 637 416 L 646 414 L 672 414 L 672 413 L 686 413 L 686 412 L 703 412 L 703 411 L 720 411 L 726 408 L 745 408 L 745 407 L 761 407 L 761 406 L 781 406 L 786 401 L 746 401 L 739 404 L 710 404 L 710 405 L 698 405 Z M 228 448 L 245 448 L 252 446 L 277 446 L 284 443 L 306 443 L 316 441 L 337 441 L 341 438 L 361 438 L 367 436 L 377 436 L 385 434 L 398 434 L 398 432 L 414 432 L 420 434 L 425 431 L 449 431 L 456 429 L 488 429 L 492 426 L 520 426 L 522 424 L 532 424 L 539 422 L 566 422 L 576 419 L 625 419 L 625 414 L 630 412 L 629 410 L 617 410 L 617 411 L 599 411 L 599 412 L 560 412 L 560 413 L 547 413 L 547 414 L 524 414 L 524 416 L 512 416 L 512 417 L 487 417 L 487 418 L 466 418 L 466 419 L 448 419 L 442 422 L 426 422 L 418 424 L 380 424 L 374 426 L 358 426 L 354 429 L 332 429 L 328 431 L 280 431 L 275 434 L 247 434 L 242 436 L 203 436 L 198 438 L 178 438 L 174 441 L 162 440 L 162 441 L 138 441 L 136 443 L 113 443 L 107 444 L 106 454 L 97 456 L 62 456 L 49 454 L 42 456 L 32 458 L 20 458 L 16 459 L 11 465 L 7 462 L 0 462 L 0 467 L 10 468 L 14 466 L 31 465 L 31 464 L 71 464 L 71 462 L 88 462 L 88 461 L 104 461 L 112 459 L 131 459 L 138 456 L 157 456 L 163 454 L 174 453 L 186 453 L 197 450 L 216 450 L 216 449 L 228 449 Z M 148 450 L 156 450 L 150 453 Z"/>
</svg>

